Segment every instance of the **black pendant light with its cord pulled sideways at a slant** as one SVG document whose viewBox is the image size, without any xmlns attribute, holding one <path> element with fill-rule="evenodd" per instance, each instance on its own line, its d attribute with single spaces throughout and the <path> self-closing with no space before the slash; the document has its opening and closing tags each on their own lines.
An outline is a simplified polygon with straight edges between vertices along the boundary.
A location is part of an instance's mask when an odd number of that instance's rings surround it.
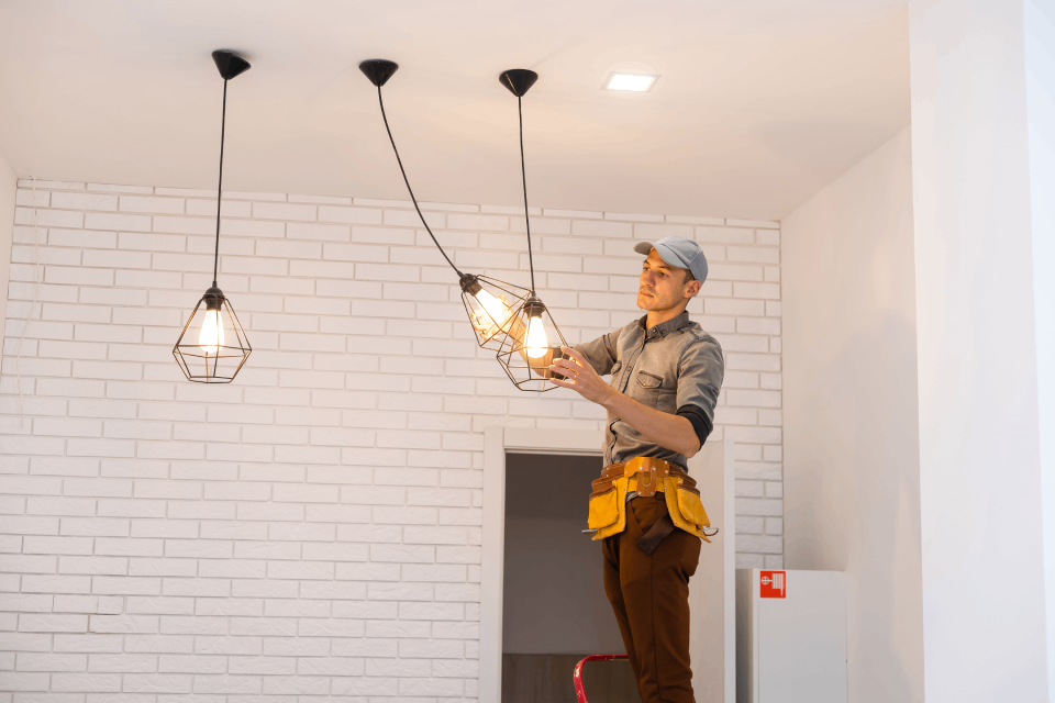
<svg viewBox="0 0 1055 703">
<path fill-rule="evenodd" d="M 381 120 L 385 122 L 385 131 L 388 132 L 388 141 L 392 144 L 392 150 L 396 153 L 396 163 L 399 164 L 399 171 L 403 176 L 403 183 L 407 185 L 407 192 L 410 193 L 410 201 L 414 203 L 414 210 L 424 225 L 433 244 L 440 249 L 440 254 L 446 259 L 447 264 L 458 276 L 458 283 L 462 287 L 462 304 L 473 325 L 473 332 L 476 342 L 485 349 L 498 352 L 501 348 L 502 335 L 508 333 L 515 325 L 513 311 L 523 305 L 531 291 L 520 286 L 507 283 L 488 276 L 478 276 L 476 274 L 463 274 L 454 265 L 447 253 L 440 246 L 436 235 L 432 233 L 425 216 L 421 214 L 421 208 L 418 207 L 418 199 L 414 198 L 414 191 L 410 188 L 410 180 L 407 178 L 407 170 L 403 168 L 403 161 L 399 157 L 399 149 L 396 148 L 396 140 L 392 137 L 392 130 L 388 126 L 388 116 L 385 114 L 385 100 L 381 98 L 381 86 L 388 82 L 392 74 L 399 68 L 395 62 L 384 58 L 373 58 L 359 64 L 359 70 L 377 86 L 377 102 L 381 108 Z"/>
</svg>

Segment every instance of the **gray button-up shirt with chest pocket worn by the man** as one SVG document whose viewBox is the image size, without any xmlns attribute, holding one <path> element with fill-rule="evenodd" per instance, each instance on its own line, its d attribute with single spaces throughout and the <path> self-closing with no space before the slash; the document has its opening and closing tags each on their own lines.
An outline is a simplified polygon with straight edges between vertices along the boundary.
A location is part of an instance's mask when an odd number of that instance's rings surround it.
<svg viewBox="0 0 1055 703">
<path fill-rule="evenodd" d="M 714 405 L 725 376 L 722 347 L 689 313 L 645 330 L 647 315 L 625 327 L 575 346 L 610 386 L 642 404 L 671 415 L 688 410 L 714 424 Z M 695 425 L 695 423 L 693 423 Z M 685 455 L 649 442 L 608 413 L 604 466 L 634 457 L 657 457 L 687 468 Z"/>
</svg>

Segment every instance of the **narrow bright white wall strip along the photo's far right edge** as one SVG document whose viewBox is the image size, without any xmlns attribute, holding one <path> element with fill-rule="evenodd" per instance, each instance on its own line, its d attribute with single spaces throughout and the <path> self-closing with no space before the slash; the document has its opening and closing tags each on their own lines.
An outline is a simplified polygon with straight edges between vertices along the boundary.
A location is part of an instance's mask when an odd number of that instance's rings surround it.
<svg viewBox="0 0 1055 703">
<path fill-rule="evenodd" d="M 1055 1 L 1026 0 L 1023 7 L 1051 699 L 1055 698 Z"/>
</svg>

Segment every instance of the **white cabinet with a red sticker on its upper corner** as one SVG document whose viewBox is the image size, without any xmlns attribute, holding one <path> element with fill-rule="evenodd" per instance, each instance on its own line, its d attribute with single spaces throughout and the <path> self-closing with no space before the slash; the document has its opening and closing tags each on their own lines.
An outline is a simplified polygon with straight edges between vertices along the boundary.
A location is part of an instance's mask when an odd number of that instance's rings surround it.
<svg viewBox="0 0 1055 703">
<path fill-rule="evenodd" d="M 843 573 L 737 569 L 737 703 L 846 699 Z"/>
</svg>

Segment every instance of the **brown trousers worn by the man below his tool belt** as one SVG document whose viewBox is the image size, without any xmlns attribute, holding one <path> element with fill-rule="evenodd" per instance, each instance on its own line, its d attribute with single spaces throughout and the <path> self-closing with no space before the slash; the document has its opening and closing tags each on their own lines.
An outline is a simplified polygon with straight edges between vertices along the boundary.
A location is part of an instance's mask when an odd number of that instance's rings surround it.
<svg viewBox="0 0 1055 703">
<path fill-rule="evenodd" d="M 667 514 L 663 493 L 626 505 L 626 529 L 603 540 L 604 592 L 615 611 L 643 703 L 695 703 L 689 668 L 689 577 L 700 538 L 675 529 L 652 555 L 637 547 Z"/>
</svg>

